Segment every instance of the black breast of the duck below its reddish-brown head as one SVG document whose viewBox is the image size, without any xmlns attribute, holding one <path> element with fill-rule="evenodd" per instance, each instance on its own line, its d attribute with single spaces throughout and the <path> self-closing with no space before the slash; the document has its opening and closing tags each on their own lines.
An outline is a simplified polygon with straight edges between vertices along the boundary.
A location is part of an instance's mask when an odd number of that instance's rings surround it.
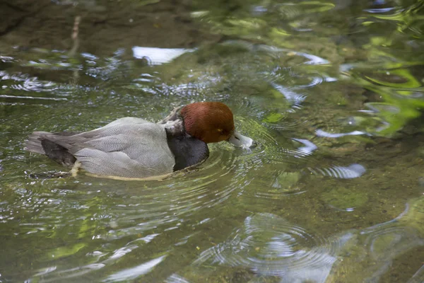
<svg viewBox="0 0 424 283">
<path fill-rule="evenodd" d="M 172 134 L 166 129 L 167 144 L 175 156 L 174 171 L 196 165 L 209 157 L 208 145 L 200 139 L 195 139 L 189 134 L 182 132 Z"/>
</svg>

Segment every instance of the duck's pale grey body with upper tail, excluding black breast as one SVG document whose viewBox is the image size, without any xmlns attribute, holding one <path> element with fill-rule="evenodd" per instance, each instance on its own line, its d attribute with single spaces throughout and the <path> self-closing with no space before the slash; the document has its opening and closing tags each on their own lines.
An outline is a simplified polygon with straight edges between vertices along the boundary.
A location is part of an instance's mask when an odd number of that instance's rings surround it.
<svg viewBox="0 0 424 283">
<path fill-rule="evenodd" d="M 163 125 L 125 117 L 90 132 L 64 136 L 34 132 L 26 149 L 46 154 L 47 139 L 76 158 L 88 173 L 121 178 L 147 178 L 173 172 L 175 156 L 167 144 Z"/>
</svg>

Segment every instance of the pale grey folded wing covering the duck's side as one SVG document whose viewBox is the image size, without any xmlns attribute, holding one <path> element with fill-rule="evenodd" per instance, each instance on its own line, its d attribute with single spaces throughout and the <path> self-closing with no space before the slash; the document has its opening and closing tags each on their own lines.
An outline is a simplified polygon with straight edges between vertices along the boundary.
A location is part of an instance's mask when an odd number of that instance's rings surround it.
<svg viewBox="0 0 424 283">
<path fill-rule="evenodd" d="M 153 123 L 114 125 L 95 133 L 73 156 L 98 175 L 146 178 L 172 173 L 175 157 L 163 127 Z"/>
</svg>

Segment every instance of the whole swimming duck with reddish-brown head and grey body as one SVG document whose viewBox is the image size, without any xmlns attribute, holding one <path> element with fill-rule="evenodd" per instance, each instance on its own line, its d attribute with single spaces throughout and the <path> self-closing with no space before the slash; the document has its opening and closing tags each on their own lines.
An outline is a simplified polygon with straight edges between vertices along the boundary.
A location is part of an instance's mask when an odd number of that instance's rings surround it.
<svg viewBox="0 0 424 283">
<path fill-rule="evenodd" d="M 82 170 L 109 178 L 155 178 L 192 168 L 209 156 L 208 144 L 228 141 L 249 149 L 256 142 L 237 132 L 230 108 L 196 102 L 175 108 L 160 122 L 123 117 L 88 132 L 33 132 L 25 150 L 44 154 L 72 175 Z"/>
</svg>

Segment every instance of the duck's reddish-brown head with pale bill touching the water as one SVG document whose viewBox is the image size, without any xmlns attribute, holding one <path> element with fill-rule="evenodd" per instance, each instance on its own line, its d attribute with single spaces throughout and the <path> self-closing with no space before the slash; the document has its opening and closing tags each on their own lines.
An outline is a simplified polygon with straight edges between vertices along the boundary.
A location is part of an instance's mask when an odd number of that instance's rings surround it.
<svg viewBox="0 0 424 283">
<path fill-rule="evenodd" d="M 199 102 L 184 106 L 179 111 L 184 129 L 196 139 L 206 144 L 230 141 L 235 146 L 249 148 L 253 139 L 235 130 L 234 118 L 227 105 L 220 102 Z"/>
</svg>

